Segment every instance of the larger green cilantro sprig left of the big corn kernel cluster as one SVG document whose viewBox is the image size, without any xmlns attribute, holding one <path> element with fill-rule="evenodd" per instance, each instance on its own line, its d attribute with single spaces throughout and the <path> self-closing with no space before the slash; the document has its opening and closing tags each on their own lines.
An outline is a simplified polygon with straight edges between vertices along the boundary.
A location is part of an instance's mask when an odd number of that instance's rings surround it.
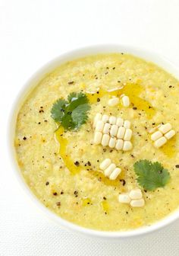
<svg viewBox="0 0 179 256">
<path fill-rule="evenodd" d="M 82 92 L 72 92 L 68 100 L 55 101 L 51 110 L 51 117 L 65 130 L 77 130 L 86 123 L 87 112 L 90 109 L 88 98 Z"/>
</svg>

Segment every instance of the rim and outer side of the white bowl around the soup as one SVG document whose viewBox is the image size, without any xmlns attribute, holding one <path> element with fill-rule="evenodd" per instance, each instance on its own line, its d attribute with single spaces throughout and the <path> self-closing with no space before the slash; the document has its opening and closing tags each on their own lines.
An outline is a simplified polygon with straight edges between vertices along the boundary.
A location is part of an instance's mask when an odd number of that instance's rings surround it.
<svg viewBox="0 0 179 256">
<path fill-rule="evenodd" d="M 14 132 L 15 132 L 15 126 L 16 126 L 16 120 L 17 120 L 17 113 L 20 110 L 21 104 L 24 102 L 24 98 L 27 97 L 27 94 L 30 93 L 30 91 L 37 85 L 39 80 L 44 75 L 46 75 L 48 72 L 51 72 L 57 66 L 61 65 L 61 63 L 64 63 L 72 59 L 77 59 L 83 56 L 93 55 L 96 53 L 130 53 L 135 56 L 139 56 L 143 59 L 154 62 L 158 66 L 161 66 L 163 69 L 165 69 L 166 71 L 174 75 L 176 78 L 179 78 L 179 70 L 174 68 L 171 62 L 169 62 L 167 59 L 161 56 L 158 56 L 157 54 L 149 53 L 146 50 L 140 50 L 130 46 L 119 46 L 119 45 L 89 46 L 89 47 L 82 48 L 80 50 L 73 50 L 69 53 L 64 53 L 63 55 L 48 62 L 45 66 L 42 66 L 42 68 L 39 69 L 26 82 L 26 84 L 21 89 L 16 101 L 14 102 L 11 116 L 10 116 L 10 122 L 9 122 L 10 130 L 8 134 L 8 147 L 9 147 L 9 152 L 11 156 L 12 168 L 14 169 L 14 172 L 20 183 L 20 186 L 23 187 L 26 194 L 28 194 L 31 200 L 33 200 L 36 206 L 38 206 L 43 213 L 46 213 L 46 215 L 49 216 L 50 219 L 53 219 L 56 223 L 58 223 L 59 226 L 63 226 L 64 228 L 70 229 L 71 231 L 80 232 L 85 235 L 90 235 L 90 236 L 99 237 L 99 238 L 114 239 L 114 238 L 129 238 L 132 236 L 144 235 L 146 233 L 155 231 L 157 229 L 161 229 L 162 227 L 167 226 L 169 223 L 174 222 L 174 220 L 179 218 L 179 210 L 171 213 L 169 216 L 165 217 L 165 219 L 162 219 L 159 222 L 152 224 L 152 226 L 146 226 L 146 227 L 143 227 L 140 229 L 134 229 L 131 231 L 102 232 L 102 231 L 97 231 L 93 229 L 85 229 L 81 226 L 77 226 L 73 224 L 72 222 L 68 222 L 65 219 L 61 219 L 61 217 L 57 216 L 55 213 L 52 213 L 51 210 L 47 209 L 46 206 L 43 206 L 43 204 L 40 203 L 39 200 L 33 195 L 30 188 L 27 187 L 27 184 L 25 183 L 24 178 L 20 174 L 20 168 L 17 165 L 17 160 L 15 157 L 15 149 L 14 149 Z"/>
</svg>

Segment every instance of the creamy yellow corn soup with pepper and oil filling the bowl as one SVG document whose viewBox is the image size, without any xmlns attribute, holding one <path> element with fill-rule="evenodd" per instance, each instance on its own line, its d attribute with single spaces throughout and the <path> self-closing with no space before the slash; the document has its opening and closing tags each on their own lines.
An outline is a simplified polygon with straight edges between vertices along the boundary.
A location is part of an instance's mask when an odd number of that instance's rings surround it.
<svg viewBox="0 0 179 256">
<path fill-rule="evenodd" d="M 85 106 L 75 114 L 52 110 L 74 92 L 86 97 Z M 68 117 L 61 122 L 58 114 Z M 118 117 L 130 123 L 126 140 L 116 134 Z M 179 82 L 168 72 L 124 53 L 87 56 L 47 74 L 24 100 L 14 138 L 17 162 L 33 194 L 63 219 L 105 231 L 150 226 L 179 205 L 178 119 Z M 105 123 L 116 126 L 102 141 Z M 165 176 L 161 183 L 150 170 L 155 185 L 137 179 L 135 163 L 144 160 L 167 169 L 157 173 Z M 143 176 L 145 166 L 137 168 Z"/>
</svg>

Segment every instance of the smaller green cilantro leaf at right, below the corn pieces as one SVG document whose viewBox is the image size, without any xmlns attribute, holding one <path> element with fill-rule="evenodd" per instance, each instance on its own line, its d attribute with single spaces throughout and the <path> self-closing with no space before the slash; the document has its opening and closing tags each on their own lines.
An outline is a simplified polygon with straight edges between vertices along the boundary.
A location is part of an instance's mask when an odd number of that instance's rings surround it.
<svg viewBox="0 0 179 256">
<path fill-rule="evenodd" d="M 159 162 L 140 160 L 133 165 L 137 174 L 137 182 L 146 190 L 155 190 L 157 187 L 164 187 L 170 174 Z"/>
</svg>

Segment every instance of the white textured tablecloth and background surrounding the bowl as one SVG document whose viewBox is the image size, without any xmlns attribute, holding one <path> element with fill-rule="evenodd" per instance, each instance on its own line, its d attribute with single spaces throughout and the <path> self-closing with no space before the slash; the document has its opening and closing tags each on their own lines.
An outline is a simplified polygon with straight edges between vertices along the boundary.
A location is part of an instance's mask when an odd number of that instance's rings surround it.
<svg viewBox="0 0 179 256">
<path fill-rule="evenodd" d="M 0 0 L 0 255 L 179 255 L 179 220 L 142 238 L 103 242 L 62 230 L 14 178 L 7 120 L 21 86 L 45 62 L 95 43 L 154 50 L 179 67 L 178 0 Z"/>
</svg>

